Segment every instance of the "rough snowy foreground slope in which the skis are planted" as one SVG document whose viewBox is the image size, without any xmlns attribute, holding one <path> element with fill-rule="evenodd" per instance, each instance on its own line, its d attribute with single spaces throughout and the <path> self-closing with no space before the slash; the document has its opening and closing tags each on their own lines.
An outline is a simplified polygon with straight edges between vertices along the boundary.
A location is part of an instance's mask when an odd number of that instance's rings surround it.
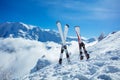
<svg viewBox="0 0 120 80">
<path fill-rule="evenodd" d="M 22 80 L 120 80 L 120 31 L 88 47 L 91 56 L 88 61 L 80 61 L 78 47 L 72 47 L 71 64 L 64 59 L 61 66 L 51 64 Z"/>
</svg>

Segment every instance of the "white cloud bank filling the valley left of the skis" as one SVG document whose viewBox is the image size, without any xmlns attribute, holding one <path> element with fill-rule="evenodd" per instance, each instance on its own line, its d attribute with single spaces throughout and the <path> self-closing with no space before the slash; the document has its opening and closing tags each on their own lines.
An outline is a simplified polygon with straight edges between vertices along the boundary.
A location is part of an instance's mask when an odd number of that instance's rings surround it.
<svg viewBox="0 0 120 80">
<path fill-rule="evenodd" d="M 61 45 L 55 42 L 0 38 L 0 78 L 6 70 L 12 70 L 11 76 L 14 78 L 28 74 L 43 56 L 50 63 L 56 63 L 60 47 Z"/>
</svg>

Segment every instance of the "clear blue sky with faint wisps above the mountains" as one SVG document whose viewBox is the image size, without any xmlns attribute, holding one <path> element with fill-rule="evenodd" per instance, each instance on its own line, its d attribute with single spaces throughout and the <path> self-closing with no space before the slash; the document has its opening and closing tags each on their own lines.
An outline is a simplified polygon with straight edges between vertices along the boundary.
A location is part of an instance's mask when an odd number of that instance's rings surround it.
<svg viewBox="0 0 120 80">
<path fill-rule="evenodd" d="M 120 0 L 0 0 L 0 23 L 23 22 L 57 30 L 56 21 L 74 26 L 81 35 L 95 37 L 120 30 Z"/>
</svg>

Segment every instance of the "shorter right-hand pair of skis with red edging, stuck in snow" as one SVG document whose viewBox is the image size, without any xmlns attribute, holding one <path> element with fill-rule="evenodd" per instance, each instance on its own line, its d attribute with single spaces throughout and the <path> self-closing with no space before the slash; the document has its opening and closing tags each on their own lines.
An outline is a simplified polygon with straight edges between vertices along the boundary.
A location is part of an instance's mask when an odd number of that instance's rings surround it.
<svg viewBox="0 0 120 80">
<path fill-rule="evenodd" d="M 87 60 L 89 59 L 89 54 L 87 53 L 87 50 L 85 48 L 85 44 L 83 43 L 81 36 L 80 36 L 80 27 L 79 26 L 75 26 L 75 31 L 78 37 L 78 45 L 79 45 L 79 53 L 80 53 L 80 60 L 83 60 L 84 56 L 83 56 L 83 52 L 82 52 L 82 48 L 84 51 L 84 54 L 87 58 Z"/>
</svg>

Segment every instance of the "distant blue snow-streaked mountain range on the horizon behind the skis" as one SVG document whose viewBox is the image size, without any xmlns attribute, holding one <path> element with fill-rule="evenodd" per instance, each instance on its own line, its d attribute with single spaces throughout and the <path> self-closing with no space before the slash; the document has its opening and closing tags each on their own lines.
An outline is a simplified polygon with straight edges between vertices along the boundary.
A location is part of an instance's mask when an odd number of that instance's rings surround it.
<svg viewBox="0 0 120 80">
<path fill-rule="evenodd" d="M 60 43 L 60 36 L 57 31 L 50 29 L 41 29 L 40 27 L 27 25 L 22 22 L 5 22 L 0 24 L 0 37 L 2 38 L 25 38 L 37 41 L 54 41 Z M 90 39 L 82 38 L 85 42 L 90 42 Z M 67 41 L 76 40 L 76 37 L 67 37 Z M 89 41 L 90 40 L 90 41 Z M 93 38 L 92 38 L 93 40 Z M 94 39 L 95 40 L 95 39 Z M 94 41 L 93 40 L 93 41 Z"/>
</svg>

